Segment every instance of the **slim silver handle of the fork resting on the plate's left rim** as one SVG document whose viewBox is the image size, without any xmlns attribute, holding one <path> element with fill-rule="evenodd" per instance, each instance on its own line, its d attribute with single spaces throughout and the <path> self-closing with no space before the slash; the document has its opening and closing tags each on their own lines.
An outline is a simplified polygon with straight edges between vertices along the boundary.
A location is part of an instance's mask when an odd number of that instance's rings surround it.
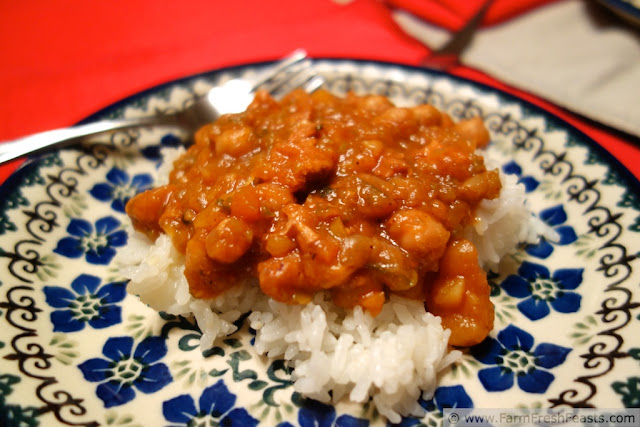
<svg viewBox="0 0 640 427">
<path fill-rule="evenodd" d="M 147 126 L 157 124 L 158 122 L 159 120 L 157 116 L 100 120 L 83 125 L 35 133 L 13 141 L 0 143 L 0 165 L 27 154 L 32 154 L 48 148 L 57 148 L 68 145 L 85 136 L 117 129 Z M 162 123 L 170 124 L 167 123 L 166 116 Z"/>
</svg>

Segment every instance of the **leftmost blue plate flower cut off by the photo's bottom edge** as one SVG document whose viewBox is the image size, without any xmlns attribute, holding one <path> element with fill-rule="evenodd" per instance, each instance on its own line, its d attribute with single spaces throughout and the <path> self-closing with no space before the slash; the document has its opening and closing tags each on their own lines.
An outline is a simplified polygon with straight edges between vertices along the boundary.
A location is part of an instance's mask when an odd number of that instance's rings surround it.
<svg viewBox="0 0 640 427">
<path fill-rule="evenodd" d="M 171 427 L 192 425 L 256 426 L 258 420 L 243 408 L 234 408 L 236 396 L 222 380 L 205 388 L 198 400 L 183 394 L 162 404 L 162 415 Z"/>
</svg>

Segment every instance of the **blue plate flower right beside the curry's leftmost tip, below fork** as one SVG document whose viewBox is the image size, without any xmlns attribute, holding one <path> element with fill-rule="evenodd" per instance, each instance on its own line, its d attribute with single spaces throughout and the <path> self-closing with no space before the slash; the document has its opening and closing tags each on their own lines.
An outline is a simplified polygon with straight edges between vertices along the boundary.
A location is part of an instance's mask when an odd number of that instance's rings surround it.
<svg viewBox="0 0 640 427">
<path fill-rule="evenodd" d="M 133 178 L 122 169 L 112 168 L 107 172 L 107 181 L 93 186 L 89 193 L 102 202 L 111 202 L 111 207 L 124 213 L 129 199 L 151 187 L 153 179 L 149 174 L 134 175 Z"/>
</svg>

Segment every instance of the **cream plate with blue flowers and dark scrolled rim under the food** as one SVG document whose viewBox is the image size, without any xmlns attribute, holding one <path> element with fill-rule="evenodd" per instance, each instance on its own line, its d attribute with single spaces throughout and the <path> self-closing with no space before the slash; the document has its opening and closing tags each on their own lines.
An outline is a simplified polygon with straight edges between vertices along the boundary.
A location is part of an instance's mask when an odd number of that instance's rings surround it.
<svg viewBox="0 0 640 427">
<path fill-rule="evenodd" d="M 640 185 L 593 141 L 519 99 L 417 68 L 317 60 L 337 93 L 431 103 L 481 116 L 499 166 L 560 236 L 490 271 L 495 329 L 440 379 L 403 425 L 446 407 L 621 408 L 640 404 Z M 180 108 L 211 85 L 269 64 L 214 71 L 128 98 L 91 119 Z M 0 424 L 384 425 L 373 405 L 328 406 L 295 393 L 291 369 L 240 330 L 202 352 L 193 321 L 126 293 L 114 257 L 124 205 L 153 186 L 173 129 L 95 137 L 33 158 L 0 187 Z M 207 424 L 208 425 L 208 424 Z"/>
</svg>

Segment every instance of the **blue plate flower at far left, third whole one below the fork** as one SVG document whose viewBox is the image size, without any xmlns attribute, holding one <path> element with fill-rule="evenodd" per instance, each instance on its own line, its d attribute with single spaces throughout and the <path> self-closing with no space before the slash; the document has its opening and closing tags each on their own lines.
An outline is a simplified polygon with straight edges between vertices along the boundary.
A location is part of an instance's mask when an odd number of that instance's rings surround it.
<svg viewBox="0 0 640 427">
<path fill-rule="evenodd" d="M 107 328 L 122 321 L 117 303 L 126 293 L 126 282 L 100 286 L 100 278 L 81 274 L 71 282 L 71 289 L 45 286 L 45 300 L 54 310 L 51 323 L 54 332 L 76 332 L 88 323 L 94 329 Z"/>
</svg>

